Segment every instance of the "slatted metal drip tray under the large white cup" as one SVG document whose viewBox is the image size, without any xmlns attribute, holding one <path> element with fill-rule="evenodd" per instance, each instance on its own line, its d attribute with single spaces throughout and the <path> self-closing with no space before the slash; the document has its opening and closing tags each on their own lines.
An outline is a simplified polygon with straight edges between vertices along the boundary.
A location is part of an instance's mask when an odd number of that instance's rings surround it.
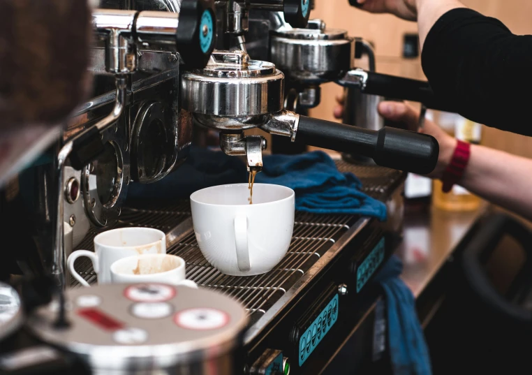
<svg viewBox="0 0 532 375">
<path fill-rule="evenodd" d="M 338 161 L 341 172 L 353 172 L 362 180 L 364 191 L 385 200 L 401 184 L 404 173 L 375 166 L 355 166 Z M 250 330 L 246 341 L 281 311 L 334 254 L 369 222 L 367 218 L 350 215 L 318 215 L 297 212 L 290 249 L 274 270 L 253 277 L 232 277 L 221 274 L 202 256 L 192 228 L 190 203 L 142 202 L 124 207 L 117 226 L 144 226 L 167 233 L 167 253 L 186 260 L 187 278 L 205 288 L 214 288 L 237 298 L 249 312 Z M 96 231 L 89 233 L 78 247 L 94 249 Z M 76 270 L 89 284 L 96 274 L 87 258 L 75 263 Z M 78 286 L 73 281 L 71 286 Z"/>
</svg>

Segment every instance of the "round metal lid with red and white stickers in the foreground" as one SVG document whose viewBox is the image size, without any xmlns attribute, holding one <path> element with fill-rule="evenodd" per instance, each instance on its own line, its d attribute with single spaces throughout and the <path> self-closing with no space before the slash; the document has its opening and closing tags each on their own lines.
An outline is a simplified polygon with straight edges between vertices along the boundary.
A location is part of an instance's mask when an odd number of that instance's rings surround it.
<svg viewBox="0 0 532 375">
<path fill-rule="evenodd" d="M 167 284 L 106 284 L 66 292 L 71 325 L 57 330 L 58 304 L 29 326 L 43 341 L 76 353 L 92 368 L 165 368 L 215 358 L 239 346 L 248 321 L 234 300 Z"/>
</svg>

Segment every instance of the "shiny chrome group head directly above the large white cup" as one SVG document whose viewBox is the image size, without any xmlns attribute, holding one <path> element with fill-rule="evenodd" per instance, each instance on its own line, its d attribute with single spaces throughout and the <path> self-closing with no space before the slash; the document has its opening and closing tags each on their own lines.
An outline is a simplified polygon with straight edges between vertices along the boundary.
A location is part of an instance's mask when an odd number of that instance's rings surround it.
<svg viewBox="0 0 532 375">
<path fill-rule="evenodd" d="M 195 115 L 245 117 L 242 122 L 282 110 L 283 89 L 284 75 L 274 64 L 251 60 L 242 51 L 214 52 L 204 69 L 182 76 L 185 110 Z"/>
</svg>

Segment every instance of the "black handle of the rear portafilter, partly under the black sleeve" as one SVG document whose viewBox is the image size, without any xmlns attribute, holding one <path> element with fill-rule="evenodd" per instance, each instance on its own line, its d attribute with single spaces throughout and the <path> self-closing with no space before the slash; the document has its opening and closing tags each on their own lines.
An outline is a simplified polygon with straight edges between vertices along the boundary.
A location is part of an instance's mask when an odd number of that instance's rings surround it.
<svg viewBox="0 0 532 375">
<path fill-rule="evenodd" d="M 366 86 L 362 89 L 364 94 L 385 96 L 401 101 L 417 101 L 432 110 L 457 112 L 452 105 L 436 98 L 427 81 L 411 80 L 410 78 L 374 72 L 366 73 Z"/>
</svg>

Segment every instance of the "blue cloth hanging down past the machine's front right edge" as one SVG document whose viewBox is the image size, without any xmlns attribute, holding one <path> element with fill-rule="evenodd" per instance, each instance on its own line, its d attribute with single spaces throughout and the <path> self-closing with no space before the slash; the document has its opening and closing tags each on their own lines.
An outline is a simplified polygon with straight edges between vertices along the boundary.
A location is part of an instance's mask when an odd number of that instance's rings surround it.
<svg viewBox="0 0 532 375">
<path fill-rule="evenodd" d="M 403 263 L 392 256 L 374 282 L 385 292 L 390 357 L 394 375 L 430 375 L 429 349 L 415 311 L 414 296 L 399 279 Z"/>
</svg>

